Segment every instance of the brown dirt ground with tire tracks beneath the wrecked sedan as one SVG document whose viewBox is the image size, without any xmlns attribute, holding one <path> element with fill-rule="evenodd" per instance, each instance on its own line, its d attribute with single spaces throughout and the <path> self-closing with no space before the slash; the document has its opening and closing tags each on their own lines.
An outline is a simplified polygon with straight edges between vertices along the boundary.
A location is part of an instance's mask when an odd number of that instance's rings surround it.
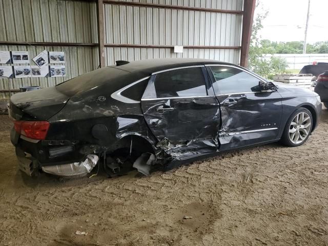
<svg viewBox="0 0 328 246">
<path fill-rule="evenodd" d="M 16 167 L 10 128 L 0 115 L 0 245 L 328 245 L 326 109 L 301 147 L 141 178 L 33 179 Z"/>
</svg>

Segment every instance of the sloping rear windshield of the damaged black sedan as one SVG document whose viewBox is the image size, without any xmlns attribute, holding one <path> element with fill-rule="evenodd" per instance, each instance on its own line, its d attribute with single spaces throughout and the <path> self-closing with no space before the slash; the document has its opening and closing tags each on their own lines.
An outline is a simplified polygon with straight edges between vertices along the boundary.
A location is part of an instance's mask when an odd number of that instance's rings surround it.
<svg viewBox="0 0 328 246">
<path fill-rule="evenodd" d="M 67 96 L 73 96 L 89 91 L 104 83 L 118 84 L 121 82 L 118 78 L 126 74 L 129 74 L 129 72 L 113 67 L 101 68 L 67 80 L 57 85 L 56 90 Z"/>
</svg>

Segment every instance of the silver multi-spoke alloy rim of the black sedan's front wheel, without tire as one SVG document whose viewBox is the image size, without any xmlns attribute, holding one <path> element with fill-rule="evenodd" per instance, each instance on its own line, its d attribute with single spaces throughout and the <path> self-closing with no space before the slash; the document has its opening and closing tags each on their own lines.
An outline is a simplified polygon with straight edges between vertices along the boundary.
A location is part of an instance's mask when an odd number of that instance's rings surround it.
<svg viewBox="0 0 328 246">
<path fill-rule="evenodd" d="M 301 144 L 310 134 L 311 117 L 308 113 L 300 112 L 292 120 L 289 127 L 289 139 L 293 144 Z"/>
</svg>

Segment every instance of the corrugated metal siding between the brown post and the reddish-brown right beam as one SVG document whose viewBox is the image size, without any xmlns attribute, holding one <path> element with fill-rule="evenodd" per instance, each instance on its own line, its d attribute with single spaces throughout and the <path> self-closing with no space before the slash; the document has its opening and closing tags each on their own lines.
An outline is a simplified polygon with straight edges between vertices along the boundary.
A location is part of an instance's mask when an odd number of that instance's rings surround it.
<svg viewBox="0 0 328 246">
<path fill-rule="evenodd" d="M 125 1 L 132 2 L 132 1 Z M 242 10 L 242 0 L 139 0 L 134 2 Z M 105 4 L 105 43 L 183 46 L 240 46 L 242 15 Z M 239 63 L 239 50 L 106 47 L 106 65 L 115 60 L 164 57 L 213 58 Z"/>
</svg>

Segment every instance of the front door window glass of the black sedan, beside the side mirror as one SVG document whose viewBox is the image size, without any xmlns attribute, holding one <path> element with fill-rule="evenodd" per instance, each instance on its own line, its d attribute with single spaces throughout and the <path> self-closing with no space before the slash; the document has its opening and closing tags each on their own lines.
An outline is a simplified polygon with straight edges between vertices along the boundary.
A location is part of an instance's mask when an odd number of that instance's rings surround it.
<svg viewBox="0 0 328 246">
<path fill-rule="evenodd" d="M 215 94 L 259 91 L 259 79 L 237 68 L 211 66 Z"/>
</svg>

